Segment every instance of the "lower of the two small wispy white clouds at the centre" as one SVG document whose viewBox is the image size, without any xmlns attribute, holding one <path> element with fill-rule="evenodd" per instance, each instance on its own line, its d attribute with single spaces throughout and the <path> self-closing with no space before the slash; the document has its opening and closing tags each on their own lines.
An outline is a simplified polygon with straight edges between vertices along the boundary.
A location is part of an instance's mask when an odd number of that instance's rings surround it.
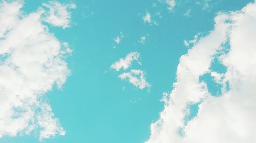
<svg viewBox="0 0 256 143">
<path fill-rule="evenodd" d="M 122 80 L 129 80 L 135 87 L 139 89 L 144 89 L 145 87 L 150 87 L 150 84 L 146 81 L 145 72 L 142 70 L 131 70 L 129 72 L 124 72 L 118 77 Z"/>
</svg>

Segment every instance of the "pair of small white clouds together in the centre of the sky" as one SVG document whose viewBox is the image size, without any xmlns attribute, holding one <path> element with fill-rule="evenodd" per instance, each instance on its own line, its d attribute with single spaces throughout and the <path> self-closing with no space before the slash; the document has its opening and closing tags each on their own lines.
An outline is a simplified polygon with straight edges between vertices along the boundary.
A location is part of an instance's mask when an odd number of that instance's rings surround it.
<svg viewBox="0 0 256 143">
<path fill-rule="evenodd" d="M 132 66 L 132 62 L 135 60 L 138 64 L 141 65 L 139 62 L 140 54 L 138 52 L 130 52 L 126 55 L 126 57 L 120 58 L 118 61 L 113 63 L 110 67 L 119 71 L 120 69 L 127 70 L 129 67 Z M 139 89 L 144 89 L 145 87 L 150 87 L 150 84 L 146 81 L 145 72 L 142 70 L 132 69 L 129 72 L 124 72 L 118 77 L 122 80 L 128 80 L 131 84 Z"/>
</svg>

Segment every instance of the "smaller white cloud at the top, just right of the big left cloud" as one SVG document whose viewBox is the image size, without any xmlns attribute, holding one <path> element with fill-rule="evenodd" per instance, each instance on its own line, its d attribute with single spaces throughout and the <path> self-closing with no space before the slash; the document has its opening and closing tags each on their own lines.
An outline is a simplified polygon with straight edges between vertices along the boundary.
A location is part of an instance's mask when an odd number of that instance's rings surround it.
<svg viewBox="0 0 256 143">
<path fill-rule="evenodd" d="M 71 13 L 68 10 L 75 9 L 75 4 L 61 4 L 58 1 L 50 1 L 49 3 L 44 3 L 42 5 L 49 9 L 45 12 L 45 22 L 57 27 L 70 27 Z"/>
</svg>

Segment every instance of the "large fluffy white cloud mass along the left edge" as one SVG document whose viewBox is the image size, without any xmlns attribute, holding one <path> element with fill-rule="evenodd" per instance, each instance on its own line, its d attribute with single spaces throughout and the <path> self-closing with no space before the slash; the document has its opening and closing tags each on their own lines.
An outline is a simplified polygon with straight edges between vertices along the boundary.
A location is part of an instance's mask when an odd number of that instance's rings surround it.
<svg viewBox="0 0 256 143">
<path fill-rule="evenodd" d="M 22 7 L 22 1 L 0 3 L 0 137 L 65 135 L 44 95 L 70 75 L 65 57 L 72 50 L 42 24 L 46 10 L 26 14 Z"/>
</svg>

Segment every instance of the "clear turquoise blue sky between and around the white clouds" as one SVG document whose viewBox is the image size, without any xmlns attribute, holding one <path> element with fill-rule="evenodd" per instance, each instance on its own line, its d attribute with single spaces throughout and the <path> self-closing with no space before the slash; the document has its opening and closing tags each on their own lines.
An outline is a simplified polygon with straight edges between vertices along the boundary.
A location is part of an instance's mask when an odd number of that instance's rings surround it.
<svg viewBox="0 0 256 143">
<path fill-rule="evenodd" d="M 25 0 L 25 13 L 37 10 L 47 1 Z M 70 1 L 59 1 L 68 3 Z M 150 136 L 150 124 L 159 118 L 164 92 L 173 89 L 181 55 L 186 54 L 184 39 L 208 34 L 219 11 L 239 10 L 251 0 L 209 1 L 203 8 L 195 1 L 179 1 L 172 12 L 165 3 L 147 1 L 72 1 L 72 27 L 63 30 L 49 26 L 49 31 L 68 42 L 73 53 L 66 60 L 71 75 L 62 87 L 47 93 L 55 117 L 66 130 L 65 136 L 43 140 L 49 143 L 142 143 Z M 156 7 L 153 7 L 153 3 Z M 190 11 L 190 16 L 184 15 Z M 158 25 L 143 22 L 146 12 Z M 156 14 L 160 12 L 161 17 Z M 155 15 L 155 16 L 153 16 Z M 119 44 L 113 40 L 124 35 Z M 146 36 L 145 42 L 138 42 Z M 115 46 L 115 48 L 113 48 Z M 118 76 L 124 72 L 110 66 L 130 52 L 140 53 L 142 65 L 133 62 L 132 69 L 145 71 L 150 87 L 139 89 Z M 218 64 L 216 70 L 225 70 Z M 209 82 L 209 77 L 201 80 Z M 123 87 L 125 87 L 123 89 Z M 218 96 L 218 87 L 209 84 Z M 193 110 L 193 108 L 192 108 Z M 196 110 L 196 109 L 195 109 Z M 36 143 L 37 133 L 17 137 L 4 136 L 3 143 Z"/>
</svg>

